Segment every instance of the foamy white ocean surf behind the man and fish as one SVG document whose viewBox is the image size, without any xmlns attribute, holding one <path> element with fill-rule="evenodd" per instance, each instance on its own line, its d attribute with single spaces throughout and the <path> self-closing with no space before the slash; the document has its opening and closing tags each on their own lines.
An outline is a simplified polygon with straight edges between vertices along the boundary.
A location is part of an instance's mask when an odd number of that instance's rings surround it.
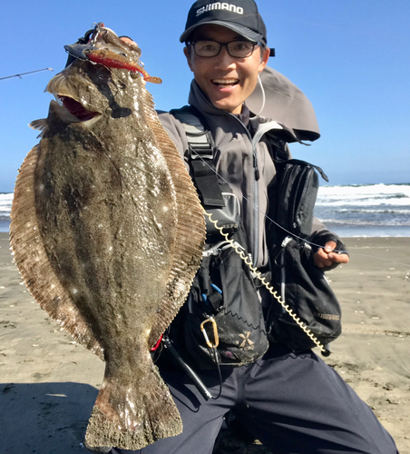
<svg viewBox="0 0 410 454">
<path fill-rule="evenodd" d="M 0 193 L 0 232 L 8 232 L 13 193 Z M 321 186 L 315 215 L 341 237 L 410 237 L 410 183 Z"/>
</svg>

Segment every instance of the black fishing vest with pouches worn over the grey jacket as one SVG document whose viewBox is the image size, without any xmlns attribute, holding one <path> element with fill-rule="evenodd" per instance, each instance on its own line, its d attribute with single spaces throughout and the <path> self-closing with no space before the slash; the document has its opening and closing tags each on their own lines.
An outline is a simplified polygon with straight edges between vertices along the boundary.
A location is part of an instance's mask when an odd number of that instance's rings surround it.
<svg viewBox="0 0 410 454">
<path fill-rule="evenodd" d="M 340 321 L 339 308 L 333 311 L 336 313 L 328 314 L 328 311 L 315 306 L 313 310 L 302 311 L 305 321 L 300 321 L 299 314 L 295 312 L 296 315 L 293 315 L 292 310 L 289 314 L 278 298 L 287 301 L 287 304 L 291 302 L 295 311 L 300 311 L 298 305 L 301 302 L 304 304 L 307 299 L 307 295 L 302 295 L 299 289 L 305 283 L 295 282 L 295 277 L 292 277 L 293 282 L 289 281 L 289 273 L 300 274 L 301 271 L 295 270 L 293 264 L 292 271 L 286 272 L 289 260 L 299 262 L 303 269 L 305 266 L 313 267 L 314 272 L 319 272 L 313 277 L 314 281 L 310 276 L 307 278 L 315 287 L 313 299 L 322 298 L 323 271 L 311 263 L 313 254 L 311 249 L 308 251 L 305 248 L 303 239 L 307 238 L 312 227 L 318 188 L 317 172 L 325 178 L 326 175 L 309 163 L 289 160 L 286 143 L 275 135 L 263 137 L 280 175 L 280 183 L 279 193 L 274 197 L 276 203 L 271 203 L 268 212 L 268 219 L 272 221 L 267 227 L 271 245 L 270 269 L 256 270 L 245 247 L 246 232 L 240 217 L 239 200 L 229 183 L 216 173 L 213 161 L 215 145 L 204 119 L 190 106 L 172 110 L 171 114 L 180 120 L 185 129 L 190 147 L 190 174 L 206 212 L 207 226 L 200 270 L 175 322 L 179 327 L 171 330 L 173 341 L 185 358 L 199 369 L 209 369 L 216 364 L 249 364 L 268 350 L 269 342 L 285 343 L 291 350 L 307 350 L 315 345 L 323 347 L 324 341 L 333 340 L 339 334 L 335 334 L 335 325 Z M 306 279 L 306 276 L 303 278 Z M 318 287 L 317 278 L 320 278 Z M 272 301 L 264 314 L 258 290 L 266 283 L 270 287 L 273 283 L 276 290 L 270 291 Z M 267 285 L 265 287 L 268 288 Z M 325 292 L 329 289 L 327 284 Z M 280 296 L 278 291 L 281 291 Z M 313 313 L 316 315 L 313 316 Z M 314 328 L 317 328 L 316 321 L 319 321 L 320 339 L 310 334 L 312 317 L 316 317 Z M 331 334 L 324 332 L 324 324 L 331 325 L 325 330 L 332 331 Z"/>
</svg>

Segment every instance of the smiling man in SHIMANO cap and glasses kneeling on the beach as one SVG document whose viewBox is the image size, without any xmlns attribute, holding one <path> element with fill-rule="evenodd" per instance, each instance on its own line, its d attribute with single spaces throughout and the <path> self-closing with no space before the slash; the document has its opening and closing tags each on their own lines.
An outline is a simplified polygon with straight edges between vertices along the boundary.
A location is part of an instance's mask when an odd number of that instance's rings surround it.
<svg viewBox="0 0 410 454">
<path fill-rule="evenodd" d="M 161 114 L 161 123 L 205 208 L 269 279 L 278 239 L 266 215 L 280 189 L 272 157 L 276 149 L 288 157 L 286 142 L 298 139 L 275 119 L 251 114 L 246 105 L 268 63 L 266 26 L 253 0 L 199 0 L 190 8 L 181 43 L 194 75 L 190 106 Z M 308 343 L 295 348 L 281 335 L 275 323 L 278 301 L 253 280 L 211 223 L 207 228 L 200 271 L 158 360 L 183 432 L 138 452 L 211 454 L 231 410 L 275 454 L 395 454 L 393 439 L 337 372 Z M 317 220 L 308 240 L 314 244 L 310 271 L 348 262 L 340 253 L 343 243 Z M 171 344 L 208 394 L 173 360 Z"/>
</svg>

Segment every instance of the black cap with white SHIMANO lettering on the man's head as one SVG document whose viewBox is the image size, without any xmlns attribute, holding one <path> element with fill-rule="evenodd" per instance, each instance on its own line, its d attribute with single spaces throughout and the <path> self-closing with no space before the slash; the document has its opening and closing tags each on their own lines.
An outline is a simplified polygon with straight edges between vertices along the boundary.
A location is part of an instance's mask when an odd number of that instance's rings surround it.
<svg viewBox="0 0 410 454">
<path fill-rule="evenodd" d="M 267 31 L 258 6 L 253 0 L 230 0 L 232 3 L 198 0 L 190 7 L 181 43 L 189 41 L 190 34 L 200 25 L 222 25 L 249 41 L 267 44 Z"/>
</svg>

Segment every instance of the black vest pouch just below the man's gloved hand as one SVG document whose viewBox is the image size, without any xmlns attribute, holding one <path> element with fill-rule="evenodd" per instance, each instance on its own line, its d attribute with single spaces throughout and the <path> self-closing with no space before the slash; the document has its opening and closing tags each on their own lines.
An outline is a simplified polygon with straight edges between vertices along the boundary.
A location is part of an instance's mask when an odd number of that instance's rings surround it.
<svg viewBox="0 0 410 454">
<path fill-rule="evenodd" d="M 342 332 L 342 314 L 324 271 L 313 262 L 310 246 L 288 236 L 282 242 L 272 274 L 272 283 L 282 301 L 305 328 L 278 301 L 272 301 L 267 317 L 269 339 L 284 343 L 291 350 L 308 350 L 317 345 L 309 337 L 311 333 L 327 349 L 327 344 Z"/>
</svg>

